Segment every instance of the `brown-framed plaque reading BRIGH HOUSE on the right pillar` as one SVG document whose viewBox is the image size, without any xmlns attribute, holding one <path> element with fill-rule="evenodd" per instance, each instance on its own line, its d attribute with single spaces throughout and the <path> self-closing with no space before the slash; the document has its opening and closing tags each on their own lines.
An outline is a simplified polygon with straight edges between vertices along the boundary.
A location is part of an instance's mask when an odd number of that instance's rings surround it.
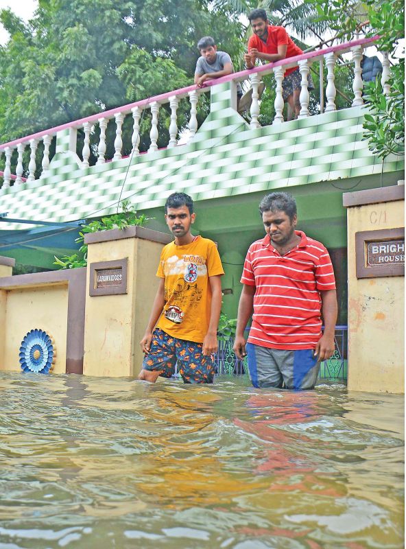
<svg viewBox="0 0 406 549">
<path fill-rule="evenodd" d="M 405 229 L 355 234 L 357 278 L 405 276 Z"/>
</svg>

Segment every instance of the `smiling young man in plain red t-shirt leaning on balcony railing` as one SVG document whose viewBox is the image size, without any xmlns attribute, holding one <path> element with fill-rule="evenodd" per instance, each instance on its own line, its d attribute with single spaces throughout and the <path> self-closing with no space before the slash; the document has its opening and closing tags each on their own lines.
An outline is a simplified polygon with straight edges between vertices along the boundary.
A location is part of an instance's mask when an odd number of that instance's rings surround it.
<svg viewBox="0 0 406 549">
<path fill-rule="evenodd" d="M 244 55 L 247 69 L 252 69 L 257 59 L 263 63 L 274 63 L 281 59 L 302 55 L 302 49 L 294 43 L 283 27 L 270 25 L 265 10 L 261 8 L 252 10 L 248 19 L 254 34 L 248 40 L 248 53 Z M 301 80 L 302 76 L 298 67 L 286 69 L 282 83 L 282 97 L 289 104 L 295 118 L 300 113 Z M 313 90 L 314 85 L 310 73 L 307 80 L 309 91 Z"/>
</svg>

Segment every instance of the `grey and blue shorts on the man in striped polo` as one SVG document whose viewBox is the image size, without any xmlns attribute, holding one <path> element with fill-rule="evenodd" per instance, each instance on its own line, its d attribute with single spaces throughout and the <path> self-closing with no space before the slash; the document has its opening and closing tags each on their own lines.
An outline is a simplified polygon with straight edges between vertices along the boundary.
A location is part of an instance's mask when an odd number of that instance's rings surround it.
<svg viewBox="0 0 406 549">
<path fill-rule="evenodd" d="M 313 389 L 320 362 L 314 349 L 270 349 L 246 344 L 248 370 L 254 387 Z"/>
</svg>

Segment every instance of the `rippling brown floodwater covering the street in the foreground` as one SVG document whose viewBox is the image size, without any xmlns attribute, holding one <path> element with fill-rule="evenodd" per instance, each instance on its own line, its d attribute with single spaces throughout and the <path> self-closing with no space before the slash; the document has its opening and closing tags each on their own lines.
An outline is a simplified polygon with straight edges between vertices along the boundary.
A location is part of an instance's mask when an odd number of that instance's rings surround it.
<svg viewBox="0 0 406 549">
<path fill-rule="evenodd" d="M 0 548 L 403 547 L 403 397 L 0 374 Z"/>
</svg>

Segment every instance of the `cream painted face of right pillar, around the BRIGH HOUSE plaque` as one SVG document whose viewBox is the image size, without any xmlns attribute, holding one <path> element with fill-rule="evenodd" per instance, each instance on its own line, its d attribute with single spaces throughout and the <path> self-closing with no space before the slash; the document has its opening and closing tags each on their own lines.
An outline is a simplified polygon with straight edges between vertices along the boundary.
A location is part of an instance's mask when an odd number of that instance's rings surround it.
<svg viewBox="0 0 406 549">
<path fill-rule="evenodd" d="M 405 279 L 357 279 L 355 257 L 355 233 L 404 227 L 404 207 L 393 200 L 347 210 L 349 390 L 404 392 Z"/>
</svg>

